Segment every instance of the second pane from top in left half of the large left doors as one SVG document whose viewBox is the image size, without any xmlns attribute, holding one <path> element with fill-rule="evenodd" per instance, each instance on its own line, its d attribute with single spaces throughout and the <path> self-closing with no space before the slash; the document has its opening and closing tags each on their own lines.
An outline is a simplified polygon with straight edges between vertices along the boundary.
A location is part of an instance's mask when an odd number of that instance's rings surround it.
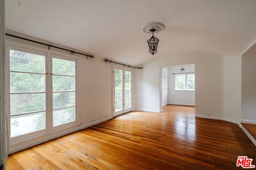
<svg viewBox="0 0 256 170">
<path fill-rule="evenodd" d="M 10 92 L 45 92 L 45 75 L 10 72 Z"/>
</svg>

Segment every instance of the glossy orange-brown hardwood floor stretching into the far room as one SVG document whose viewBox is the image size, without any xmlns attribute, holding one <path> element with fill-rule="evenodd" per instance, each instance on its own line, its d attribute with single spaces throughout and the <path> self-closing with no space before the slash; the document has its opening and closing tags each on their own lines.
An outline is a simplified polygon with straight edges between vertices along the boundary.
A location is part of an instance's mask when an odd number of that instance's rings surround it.
<svg viewBox="0 0 256 170">
<path fill-rule="evenodd" d="M 194 117 L 194 107 L 132 112 L 10 154 L 7 170 L 242 169 L 256 146 L 234 123 Z"/>
</svg>

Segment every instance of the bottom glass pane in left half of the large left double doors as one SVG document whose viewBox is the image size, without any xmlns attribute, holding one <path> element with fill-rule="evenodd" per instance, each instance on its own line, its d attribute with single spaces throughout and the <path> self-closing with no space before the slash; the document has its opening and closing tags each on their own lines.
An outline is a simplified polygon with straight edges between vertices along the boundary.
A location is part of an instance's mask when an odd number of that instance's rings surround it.
<svg viewBox="0 0 256 170">
<path fill-rule="evenodd" d="M 11 137 L 45 129 L 45 112 L 11 117 Z"/>
</svg>

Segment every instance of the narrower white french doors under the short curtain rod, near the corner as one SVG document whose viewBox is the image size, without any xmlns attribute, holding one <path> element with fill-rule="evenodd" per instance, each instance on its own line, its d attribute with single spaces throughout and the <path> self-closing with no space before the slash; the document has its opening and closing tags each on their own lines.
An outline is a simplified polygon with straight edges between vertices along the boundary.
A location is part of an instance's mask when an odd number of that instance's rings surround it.
<svg viewBox="0 0 256 170">
<path fill-rule="evenodd" d="M 132 111 L 132 70 L 113 66 L 113 116 Z"/>
</svg>

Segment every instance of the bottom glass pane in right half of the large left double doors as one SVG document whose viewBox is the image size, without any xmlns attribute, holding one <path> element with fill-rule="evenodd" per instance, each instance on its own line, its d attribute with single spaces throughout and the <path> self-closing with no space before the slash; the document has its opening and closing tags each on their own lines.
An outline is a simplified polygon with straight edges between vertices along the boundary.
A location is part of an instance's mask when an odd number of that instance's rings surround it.
<svg viewBox="0 0 256 170">
<path fill-rule="evenodd" d="M 75 107 L 53 110 L 53 126 L 75 121 Z"/>
</svg>

